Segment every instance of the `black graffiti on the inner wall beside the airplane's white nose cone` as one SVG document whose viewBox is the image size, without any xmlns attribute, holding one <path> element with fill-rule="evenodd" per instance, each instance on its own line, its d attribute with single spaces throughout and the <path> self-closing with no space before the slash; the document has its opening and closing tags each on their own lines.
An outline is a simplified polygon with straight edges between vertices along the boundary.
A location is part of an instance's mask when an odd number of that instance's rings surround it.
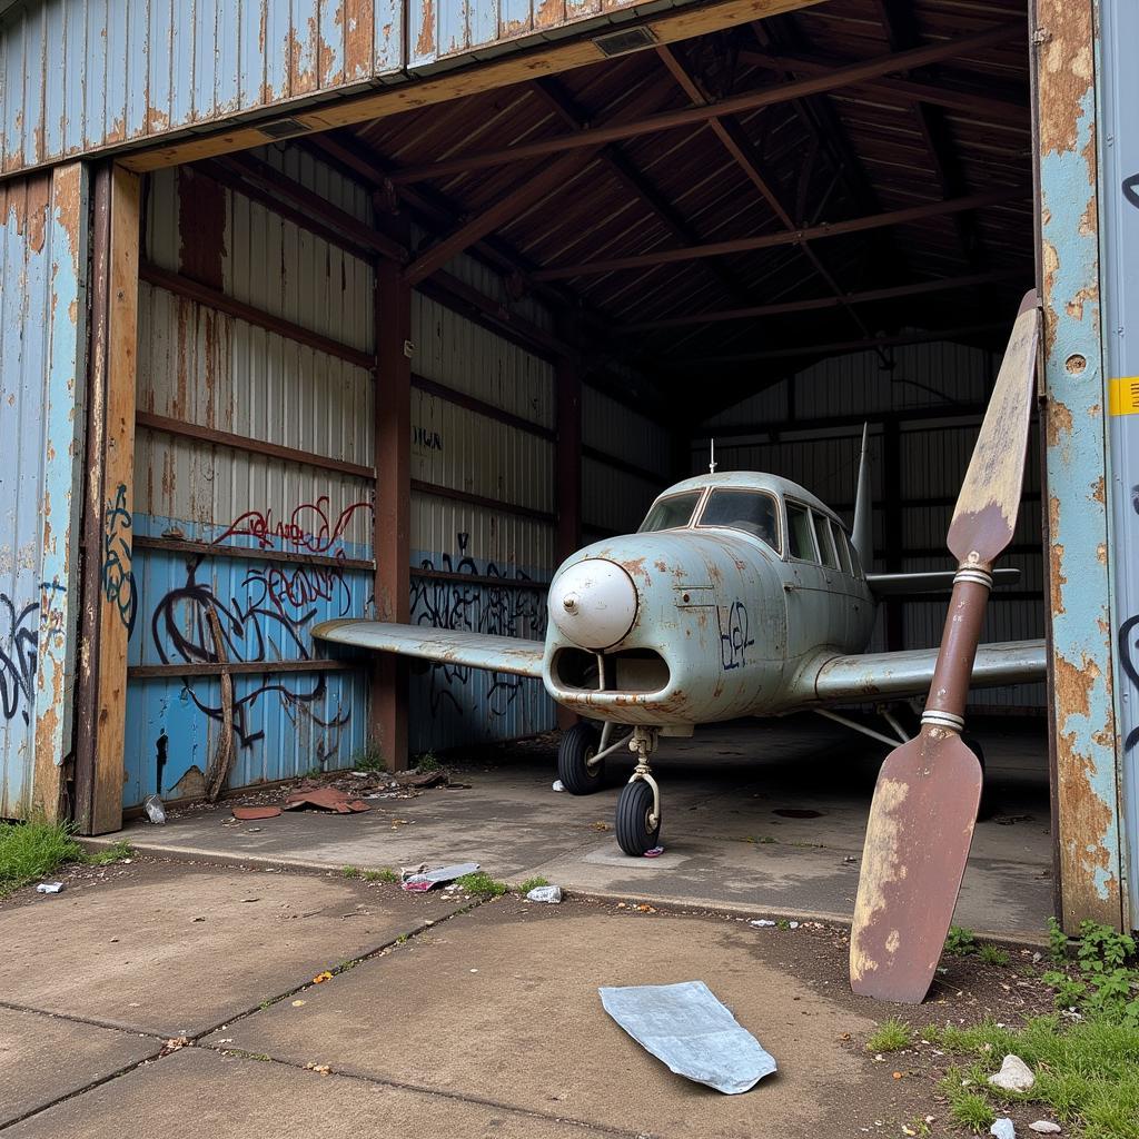
<svg viewBox="0 0 1139 1139">
<path fill-rule="evenodd" d="M 459 533 L 456 555 L 443 554 L 439 557 L 437 565 L 431 558 L 424 558 L 419 563 L 419 568 L 498 579 L 502 584 L 421 577 L 416 576 L 412 570 L 411 620 L 417 624 L 433 625 L 436 629 L 462 629 L 495 637 L 543 640 L 547 621 L 546 591 L 513 584 L 531 581 L 531 577 L 521 570 L 503 571 L 493 562 L 487 562 L 485 567 L 480 568 L 467 552 L 469 540 L 469 534 Z M 460 715 L 468 705 L 474 711 L 474 700 L 465 693 L 473 671 L 475 670 L 461 665 L 432 665 L 433 713 L 436 713 L 444 703 Z M 490 687 L 485 695 L 486 712 L 491 716 L 505 715 L 525 685 L 524 677 L 505 672 L 491 673 Z"/>
</svg>

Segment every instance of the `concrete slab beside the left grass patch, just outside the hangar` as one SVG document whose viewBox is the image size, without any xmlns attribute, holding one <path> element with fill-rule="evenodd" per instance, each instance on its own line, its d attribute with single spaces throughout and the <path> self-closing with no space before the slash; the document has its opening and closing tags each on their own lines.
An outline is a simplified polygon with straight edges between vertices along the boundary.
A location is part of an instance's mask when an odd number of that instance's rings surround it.
<svg viewBox="0 0 1139 1139">
<path fill-rule="evenodd" d="M 0 1001 L 195 1035 L 452 913 L 341 877 L 169 867 L 0 910 Z"/>
</svg>

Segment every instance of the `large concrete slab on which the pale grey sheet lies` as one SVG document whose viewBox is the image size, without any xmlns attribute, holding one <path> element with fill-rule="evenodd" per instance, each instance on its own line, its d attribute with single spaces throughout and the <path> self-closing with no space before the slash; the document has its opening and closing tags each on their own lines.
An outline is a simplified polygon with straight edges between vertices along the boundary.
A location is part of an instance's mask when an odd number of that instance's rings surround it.
<svg viewBox="0 0 1139 1139">
<path fill-rule="evenodd" d="M 502 899 L 309 990 L 301 1007 L 281 1002 L 218 1035 L 293 1064 L 631 1133 L 738 1139 L 761 1118 L 786 1137 L 842 1133 L 866 1068 L 841 1038 L 874 1022 L 760 948 L 743 923 Z M 777 1075 L 738 1097 L 690 1083 L 630 1040 L 597 993 L 690 980 L 776 1056 Z"/>
</svg>

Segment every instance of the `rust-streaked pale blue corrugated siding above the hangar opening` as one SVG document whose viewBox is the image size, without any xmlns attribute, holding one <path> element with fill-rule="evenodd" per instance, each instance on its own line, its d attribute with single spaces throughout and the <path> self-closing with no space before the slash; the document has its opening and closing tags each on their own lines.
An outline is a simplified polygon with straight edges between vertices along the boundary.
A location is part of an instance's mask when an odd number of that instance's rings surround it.
<svg viewBox="0 0 1139 1139">
<path fill-rule="evenodd" d="M 398 82 L 638 2 L 31 2 L 0 23 L 0 173 Z"/>
</svg>

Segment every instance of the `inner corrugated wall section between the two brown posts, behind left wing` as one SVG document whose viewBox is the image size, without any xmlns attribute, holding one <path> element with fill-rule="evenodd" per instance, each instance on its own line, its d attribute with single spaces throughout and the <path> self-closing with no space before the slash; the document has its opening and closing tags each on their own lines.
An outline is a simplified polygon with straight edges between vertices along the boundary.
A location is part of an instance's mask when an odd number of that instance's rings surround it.
<svg viewBox="0 0 1139 1139">
<path fill-rule="evenodd" d="M 469 257 L 448 271 L 490 296 L 501 292 L 501 281 Z M 538 305 L 525 316 L 550 325 Z M 541 640 L 544 584 L 556 568 L 554 368 L 419 293 L 411 321 L 412 368 L 432 385 L 417 386 L 411 401 L 411 620 Z M 484 410 L 449 400 L 446 391 Z M 541 681 L 443 665 L 412 675 L 413 752 L 555 723 Z"/>
</svg>

